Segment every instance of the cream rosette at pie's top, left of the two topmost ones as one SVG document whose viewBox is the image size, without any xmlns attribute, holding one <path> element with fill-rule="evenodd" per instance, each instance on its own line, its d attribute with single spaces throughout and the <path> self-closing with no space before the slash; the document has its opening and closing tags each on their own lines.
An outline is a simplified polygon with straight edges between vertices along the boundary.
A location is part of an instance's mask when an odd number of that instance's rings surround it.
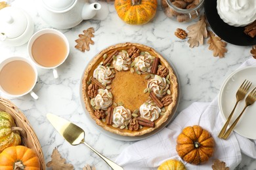
<svg viewBox="0 0 256 170">
<path fill-rule="evenodd" d="M 128 70 L 130 64 L 131 58 L 129 57 L 129 54 L 123 52 L 119 52 L 116 59 L 113 60 L 113 65 L 117 71 Z"/>
</svg>

